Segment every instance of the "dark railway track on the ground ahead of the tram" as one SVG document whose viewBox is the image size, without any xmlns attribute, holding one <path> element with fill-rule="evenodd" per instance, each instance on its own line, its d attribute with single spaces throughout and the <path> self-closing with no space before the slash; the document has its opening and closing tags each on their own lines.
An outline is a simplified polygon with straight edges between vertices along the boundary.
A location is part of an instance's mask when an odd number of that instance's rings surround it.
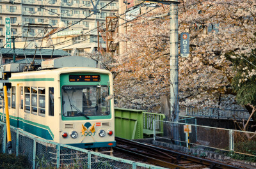
<svg viewBox="0 0 256 169">
<path fill-rule="evenodd" d="M 170 151 L 147 145 L 145 143 L 135 142 L 132 140 L 126 140 L 124 138 L 115 138 L 116 151 L 124 152 L 141 158 L 143 161 L 153 163 L 155 165 L 163 166 L 173 169 L 185 169 L 185 168 L 222 168 L 222 169 L 238 169 L 236 166 L 226 165 L 211 161 L 209 159 L 197 158 L 188 154 L 182 154 L 180 152 Z"/>
</svg>

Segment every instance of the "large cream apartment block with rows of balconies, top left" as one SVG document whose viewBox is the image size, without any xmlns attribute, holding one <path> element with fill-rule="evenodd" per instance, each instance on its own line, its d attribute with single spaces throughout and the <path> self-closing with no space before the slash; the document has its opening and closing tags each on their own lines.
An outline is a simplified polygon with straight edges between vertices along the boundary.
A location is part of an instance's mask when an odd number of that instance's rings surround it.
<svg viewBox="0 0 256 169">
<path fill-rule="evenodd" d="M 13 3 L 14 2 L 14 3 Z M 100 0 L 97 9 L 108 4 L 109 0 Z M 93 0 L 93 4 L 97 1 Z M 91 15 L 93 11 L 90 0 L 3 0 L 0 1 L 0 46 L 6 43 L 4 31 L 4 19 L 11 20 L 12 35 L 15 41 L 33 40 L 35 37 L 44 36 L 45 26 L 29 26 L 30 24 L 49 24 L 53 29 L 58 28 L 61 21 L 65 26 L 78 23 L 84 31 L 90 24 L 97 27 L 97 21 L 106 22 L 106 17 L 117 13 L 118 0 L 102 8 L 97 15 Z M 87 17 L 87 18 L 86 18 Z M 49 31 L 52 30 L 49 28 Z M 40 42 L 37 40 L 36 42 Z"/>
</svg>

